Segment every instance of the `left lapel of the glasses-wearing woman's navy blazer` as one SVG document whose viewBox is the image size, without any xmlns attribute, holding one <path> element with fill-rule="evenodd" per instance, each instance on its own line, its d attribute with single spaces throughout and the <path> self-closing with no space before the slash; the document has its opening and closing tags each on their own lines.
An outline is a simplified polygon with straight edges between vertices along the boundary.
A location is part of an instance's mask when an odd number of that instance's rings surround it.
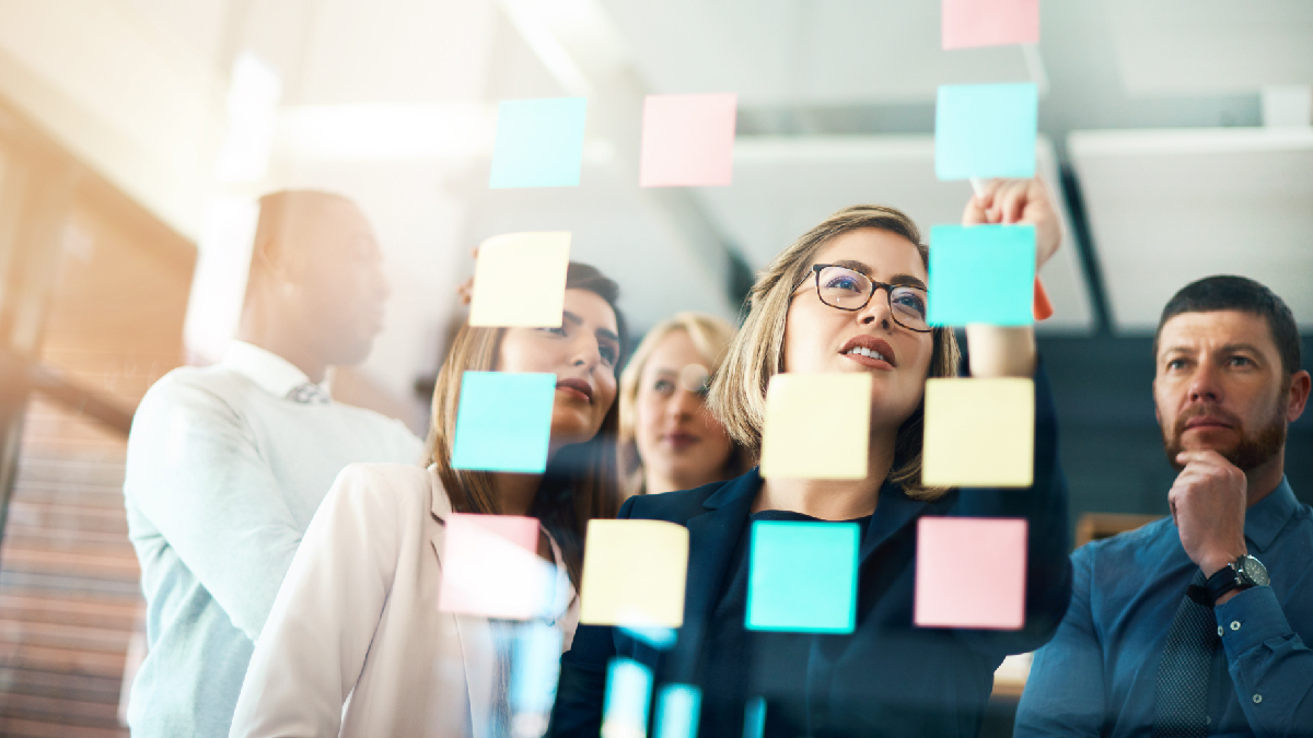
<svg viewBox="0 0 1313 738">
<path fill-rule="evenodd" d="M 692 683 L 697 675 L 702 636 L 760 487 L 762 477 L 752 469 L 706 498 L 702 507 L 708 511 L 685 523 L 688 578 L 684 586 L 684 625 L 671 654 L 674 680 Z"/>
</svg>

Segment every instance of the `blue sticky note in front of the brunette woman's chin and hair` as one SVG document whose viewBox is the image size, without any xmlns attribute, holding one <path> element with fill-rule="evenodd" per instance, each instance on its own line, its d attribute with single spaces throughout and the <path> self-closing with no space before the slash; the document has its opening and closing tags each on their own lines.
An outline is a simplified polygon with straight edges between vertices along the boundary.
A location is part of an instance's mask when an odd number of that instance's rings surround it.
<svg viewBox="0 0 1313 738">
<path fill-rule="evenodd" d="M 452 466 L 541 474 L 548 467 L 555 374 L 466 372 Z"/>
</svg>

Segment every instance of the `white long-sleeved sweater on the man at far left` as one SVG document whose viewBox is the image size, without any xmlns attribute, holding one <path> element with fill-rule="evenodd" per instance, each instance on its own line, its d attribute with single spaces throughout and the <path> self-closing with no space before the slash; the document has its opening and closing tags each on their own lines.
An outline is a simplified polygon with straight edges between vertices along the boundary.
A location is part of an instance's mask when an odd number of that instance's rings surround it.
<svg viewBox="0 0 1313 738">
<path fill-rule="evenodd" d="M 334 478 L 358 461 L 421 461 L 398 420 L 285 397 L 306 381 L 235 343 L 215 366 L 169 372 L 137 408 L 123 498 L 150 651 L 129 704 L 135 737 L 227 735 L 255 638 Z"/>
</svg>

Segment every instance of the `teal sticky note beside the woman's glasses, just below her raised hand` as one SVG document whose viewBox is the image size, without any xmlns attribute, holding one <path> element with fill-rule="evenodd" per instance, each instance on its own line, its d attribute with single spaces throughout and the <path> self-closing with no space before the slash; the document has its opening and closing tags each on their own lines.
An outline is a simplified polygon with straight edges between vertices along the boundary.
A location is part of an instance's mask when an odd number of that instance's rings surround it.
<svg viewBox="0 0 1313 738">
<path fill-rule="evenodd" d="M 932 326 L 1035 323 L 1035 226 L 932 226 Z"/>
</svg>

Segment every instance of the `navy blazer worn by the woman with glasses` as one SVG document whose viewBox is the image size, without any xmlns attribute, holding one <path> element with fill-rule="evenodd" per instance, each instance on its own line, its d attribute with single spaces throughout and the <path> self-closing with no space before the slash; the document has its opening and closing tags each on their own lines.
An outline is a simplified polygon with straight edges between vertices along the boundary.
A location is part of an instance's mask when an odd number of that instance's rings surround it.
<svg viewBox="0 0 1313 738">
<path fill-rule="evenodd" d="M 797 685 L 789 709 L 771 708 L 767 735 L 960 735 L 979 733 L 994 670 L 1007 654 L 1046 642 L 1071 595 L 1066 481 L 1057 423 L 1043 370 L 1036 373 L 1035 483 L 1025 490 L 953 490 L 935 502 L 885 483 L 859 549 L 857 621 L 851 634 L 810 636 L 804 661 L 776 664 Z M 688 528 L 684 626 L 659 653 L 618 628 L 580 625 L 561 659 L 548 735 L 596 738 L 607 664 L 620 655 L 651 666 L 656 687 L 700 684 L 702 634 L 727 584 L 735 546 L 762 486 L 756 469 L 696 490 L 630 498 L 620 517 Z M 916 520 L 923 515 L 1025 517 L 1025 625 L 1020 630 L 930 629 L 913 625 Z M 704 689 L 705 692 L 705 689 Z M 655 710 L 654 710 L 655 712 Z M 780 716 L 790 724 L 780 725 Z M 775 725 L 772 725 L 772 722 Z M 720 737 L 704 737 L 720 738 Z"/>
</svg>

